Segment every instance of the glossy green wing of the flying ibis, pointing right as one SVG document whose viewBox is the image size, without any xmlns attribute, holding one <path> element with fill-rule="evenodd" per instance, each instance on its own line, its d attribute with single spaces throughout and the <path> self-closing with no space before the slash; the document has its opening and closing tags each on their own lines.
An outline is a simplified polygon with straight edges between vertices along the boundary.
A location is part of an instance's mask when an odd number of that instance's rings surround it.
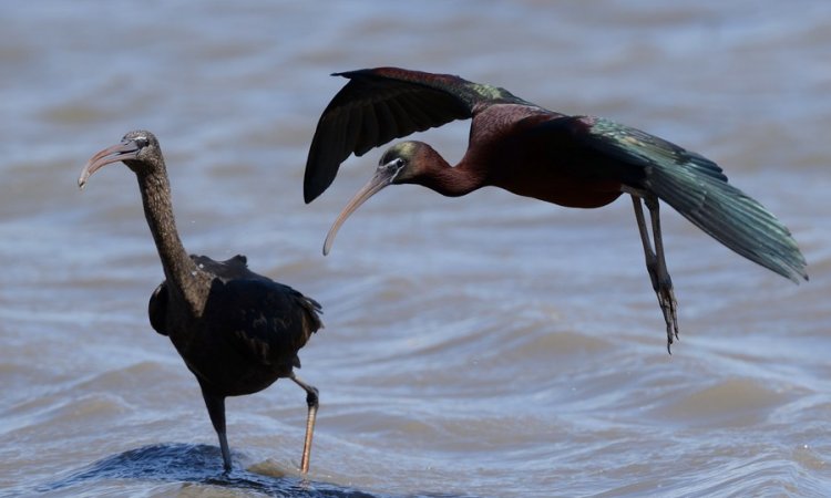
<svg viewBox="0 0 831 498">
<path fill-rule="evenodd" d="M 639 177 L 634 185 L 623 178 L 624 184 L 654 194 L 745 258 L 794 282 L 808 279 L 804 257 L 788 228 L 730 185 L 712 160 L 608 120 L 573 116 L 557 121 L 555 126 L 579 144 Z"/>
</svg>

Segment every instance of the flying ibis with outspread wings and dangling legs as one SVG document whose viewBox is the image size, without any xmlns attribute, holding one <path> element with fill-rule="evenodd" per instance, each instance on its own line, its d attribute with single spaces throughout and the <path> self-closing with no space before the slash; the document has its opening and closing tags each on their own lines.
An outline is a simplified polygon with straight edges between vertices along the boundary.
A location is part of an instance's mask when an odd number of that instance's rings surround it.
<svg viewBox="0 0 831 498">
<path fill-rule="evenodd" d="M 728 184 L 716 163 L 694 152 L 602 117 L 555 113 L 504 89 L 453 75 L 397 68 L 335 75 L 349 82 L 318 122 L 306 163 L 306 203 L 329 187 L 350 154 L 360 156 L 453 120 L 472 122 L 468 151 L 452 167 L 423 142 L 388 148 L 372 179 L 332 225 L 324 253 L 346 218 L 388 185 L 417 184 L 453 197 L 494 186 L 577 208 L 605 206 L 629 194 L 666 321 L 667 349 L 678 338 L 678 317 L 664 257 L 659 199 L 745 258 L 794 282 L 808 279 L 790 231 Z M 649 210 L 652 240 L 642 203 Z"/>
</svg>

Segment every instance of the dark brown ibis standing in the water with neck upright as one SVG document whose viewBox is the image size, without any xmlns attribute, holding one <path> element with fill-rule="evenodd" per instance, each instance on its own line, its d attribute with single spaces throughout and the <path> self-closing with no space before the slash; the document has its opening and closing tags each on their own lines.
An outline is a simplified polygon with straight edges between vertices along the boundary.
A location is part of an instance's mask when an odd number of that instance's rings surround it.
<svg viewBox="0 0 831 498">
<path fill-rule="evenodd" d="M 138 178 L 144 215 L 162 260 L 165 281 L 150 299 L 150 322 L 171 338 L 202 387 L 219 437 L 225 470 L 230 450 L 225 435 L 225 397 L 252 394 L 278 378 L 306 391 L 308 417 L 300 470 L 308 471 L 318 408 L 317 388 L 299 380 L 297 352 L 322 328 L 320 305 L 288 286 L 250 271 L 244 256 L 214 261 L 188 256 L 173 217 L 171 188 L 162 149 L 145 131 L 92 156 L 78 180 L 110 163 L 123 162 Z"/>
</svg>

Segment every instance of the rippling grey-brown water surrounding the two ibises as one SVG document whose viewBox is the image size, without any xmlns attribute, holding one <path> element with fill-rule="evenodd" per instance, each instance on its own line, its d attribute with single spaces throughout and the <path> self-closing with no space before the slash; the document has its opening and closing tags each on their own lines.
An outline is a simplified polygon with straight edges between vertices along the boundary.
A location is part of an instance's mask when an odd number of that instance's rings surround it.
<svg viewBox="0 0 831 498">
<path fill-rule="evenodd" d="M 831 2 L 0 3 L 0 494 L 831 495 Z M 418 6 L 418 7 L 416 7 Z M 628 200 L 558 208 L 396 187 L 320 255 L 380 151 L 301 198 L 317 118 L 376 65 L 450 72 L 717 160 L 793 231 L 793 286 L 665 209 L 665 350 Z M 166 153 L 188 250 L 315 297 L 304 394 L 228 401 L 220 474 L 193 376 L 152 332 L 162 279 L 133 128 Z M 450 159 L 466 123 L 425 134 Z"/>
</svg>

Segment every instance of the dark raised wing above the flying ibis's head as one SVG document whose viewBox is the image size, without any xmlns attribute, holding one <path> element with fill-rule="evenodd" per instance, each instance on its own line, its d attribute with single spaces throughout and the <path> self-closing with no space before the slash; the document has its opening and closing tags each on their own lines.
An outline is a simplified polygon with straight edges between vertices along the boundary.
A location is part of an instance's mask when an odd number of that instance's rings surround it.
<svg viewBox="0 0 831 498">
<path fill-rule="evenodd" d="M 318 121 L 306 162 L 306 203 L 331 185 L 350 154 L 360 156 L 393 138 L 470 118 L 483 104 L 532 105 L 506 90 L 449 74 L 377 68 L 334 75 L 349 83 Z"/>
</svg>

